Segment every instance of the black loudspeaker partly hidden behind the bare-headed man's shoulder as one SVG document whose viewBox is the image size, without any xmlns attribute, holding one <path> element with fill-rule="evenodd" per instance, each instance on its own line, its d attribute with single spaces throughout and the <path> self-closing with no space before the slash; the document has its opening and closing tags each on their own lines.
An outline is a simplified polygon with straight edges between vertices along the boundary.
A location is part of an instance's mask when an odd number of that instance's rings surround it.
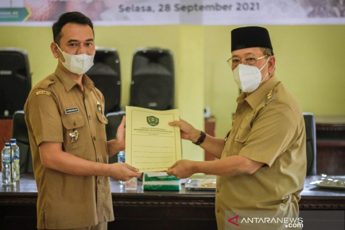
<svg viewBox="0 0 345 230">
<path fill-rule="evenodd" d="M 105 111 L 121 110 L 121 74 L 120 59 L 115 48 L 96 47 L 93 66 L 86 75 L 95 83 L 104 96 Z"/>
</svg>

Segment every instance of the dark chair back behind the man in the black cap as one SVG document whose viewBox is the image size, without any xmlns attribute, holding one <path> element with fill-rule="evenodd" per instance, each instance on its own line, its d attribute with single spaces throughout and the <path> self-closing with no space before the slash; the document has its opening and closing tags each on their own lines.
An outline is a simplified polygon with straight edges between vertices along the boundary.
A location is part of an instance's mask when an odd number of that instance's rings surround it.
<svg viewBox="0 0 345 230">
<path fill-rule="evenodd" d="M 307 175 L 316 175 L 316 128 L 313 113 L 303 113 L 306 148 L 307 148 Z"/>
</svg>

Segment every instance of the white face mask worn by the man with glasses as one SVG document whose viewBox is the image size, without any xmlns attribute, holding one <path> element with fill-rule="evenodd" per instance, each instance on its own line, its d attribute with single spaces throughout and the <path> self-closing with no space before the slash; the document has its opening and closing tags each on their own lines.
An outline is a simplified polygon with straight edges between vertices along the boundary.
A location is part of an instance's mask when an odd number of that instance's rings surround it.
<svg viewBox="0 0 345 230">
<path fill-rule="evenodd" d="M 238 64 L 238 66 L 233 70 L 234 80 L 237 86 L 242 89 L 243 92 L 253 92 L 259 87 L 259 84 L 263 82 L 267 77 L 261 80 L 261 70 L 266 66 L 270 57 L 260 69 L 256 66 L 248 66 L 244 64 Z"/>
</svg>

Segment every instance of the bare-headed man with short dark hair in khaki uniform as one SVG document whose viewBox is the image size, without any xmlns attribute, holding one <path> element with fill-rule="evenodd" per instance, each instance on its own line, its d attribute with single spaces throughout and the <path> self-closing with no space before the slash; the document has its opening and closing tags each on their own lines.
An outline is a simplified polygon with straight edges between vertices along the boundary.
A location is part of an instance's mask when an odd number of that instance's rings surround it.
<svg viewBox="0 0 345 230">
<path fill-rule="evenodd" d="M 105 230 L 114 220 L 109 177 L 140 177 L 126 163 L 108 164 L 125 147 L 125 120 L 108 141 L 104 98 L 85 75 L 95 41 L 89 18 L 62 14 L 53 25 L 55 72 L 40 81 L 24 106 L 38 189 L 38 229 Z"/>
</svg>

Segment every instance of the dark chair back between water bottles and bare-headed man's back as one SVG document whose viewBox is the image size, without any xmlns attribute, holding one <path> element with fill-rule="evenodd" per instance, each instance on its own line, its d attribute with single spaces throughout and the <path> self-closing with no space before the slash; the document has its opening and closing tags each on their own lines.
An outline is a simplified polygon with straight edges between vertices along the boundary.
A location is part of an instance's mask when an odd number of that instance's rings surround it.
<svg viewBox="0 0 345 230">
<path fill-rule="evenodd" d="M 28 128 L 22 110 L 16 111 L 13 114 L 12 138 L 17 139 L 17 145 L 19 147 L 20 173 L 33 173 Z"/>
</svg>

